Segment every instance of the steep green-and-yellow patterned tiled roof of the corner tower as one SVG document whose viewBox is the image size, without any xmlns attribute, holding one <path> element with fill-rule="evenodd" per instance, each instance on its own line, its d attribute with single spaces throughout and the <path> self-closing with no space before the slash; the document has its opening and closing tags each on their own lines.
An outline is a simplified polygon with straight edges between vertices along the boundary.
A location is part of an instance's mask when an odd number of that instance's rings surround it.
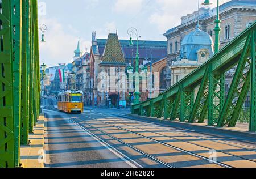
<svg viewBox="0 0 256 179">
<path fill-rule="evenodd" d="M 121 44 L 117 34 L 115 33 L 110 33 L 108 40 L 106 41 L 106 46 L 102 58 L 102 64 L 104 63 L 125 63 Z"/>
</svg>

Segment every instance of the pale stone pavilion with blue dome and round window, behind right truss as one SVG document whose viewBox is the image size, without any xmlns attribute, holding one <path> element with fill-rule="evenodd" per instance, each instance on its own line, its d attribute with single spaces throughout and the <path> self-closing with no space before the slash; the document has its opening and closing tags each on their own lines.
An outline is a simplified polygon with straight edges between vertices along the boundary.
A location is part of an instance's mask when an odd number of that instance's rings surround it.
<svg viewBox="0 0 256 179">
<path fill-rule="evenodd" d="M 179 82 L 193 70 L 213 56 L 213 40 L 208 33 L 197 26 L 195 31 L 184 37 L 180 46 L 180 56 L 172 62 L 172 85 Z"/>
</svg>

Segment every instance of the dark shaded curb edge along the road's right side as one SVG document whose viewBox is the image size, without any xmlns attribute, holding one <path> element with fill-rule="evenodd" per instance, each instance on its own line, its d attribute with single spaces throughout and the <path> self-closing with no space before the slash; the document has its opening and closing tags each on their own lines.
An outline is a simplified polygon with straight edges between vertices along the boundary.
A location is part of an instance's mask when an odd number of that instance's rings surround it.
<svg viewBox="0 0 256 179">
<path fill-rule="evenodd" d="M 158 118 L 151 118 L 151 117 L 144 117 L 144 116 L 138 116 L 135 114 L 127 114 L 129 117 L 135 117 L 141 120 L 150 120 L 152 122 L 159 122 Z M 180 122 L 173 122 L 173 121 L 168 121 L 168 120 L 162 120 L 159 123 L 164 123 L 165 125 L 169 125 L 170 127 L 182 127 L 185 129 L 192 129 L 192 130 L 208 130 L 213 131 L 217 134 L 224 133 L 228 135 L 238 135 L 240 137 L 250 137 L 256 139 L 256 133 L 251 133 L 251 132 L 243 132 L 243 131 L 236 131 L 236 130 L 231 130 L 231 129 L 223 129 L 221 127 L 213 127 L 213 126 L 197 126 L 193 125 L 192 123 L 180 123 Z M 204 131 L 205 132 L 205 131 Z"/>
</svg>

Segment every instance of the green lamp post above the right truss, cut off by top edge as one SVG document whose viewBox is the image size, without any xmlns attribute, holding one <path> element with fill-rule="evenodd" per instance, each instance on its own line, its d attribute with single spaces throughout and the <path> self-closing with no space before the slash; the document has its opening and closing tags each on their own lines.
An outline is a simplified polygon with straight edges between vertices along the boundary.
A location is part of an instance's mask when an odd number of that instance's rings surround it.
<svg viewBox="0 0 256 179">
<path fill-rule="evenodd" d="M 209 6 L 212 5 L 212 3 L 210 3 L 210 0 L 205 0 L 204 3 L 202 5 L 205 6 Z M 220 6 L 219 6 L 219 0 L 217 0 L 217 16 L 216 16 L 216 27 L 214 28 L 214 32 L 215 32 L 215 48 L 214 48 L 214 53 L 217 53 L 220 50 L 220 32 L 221 32 L 221 28 L 220 28 Z"/>
</svg>

